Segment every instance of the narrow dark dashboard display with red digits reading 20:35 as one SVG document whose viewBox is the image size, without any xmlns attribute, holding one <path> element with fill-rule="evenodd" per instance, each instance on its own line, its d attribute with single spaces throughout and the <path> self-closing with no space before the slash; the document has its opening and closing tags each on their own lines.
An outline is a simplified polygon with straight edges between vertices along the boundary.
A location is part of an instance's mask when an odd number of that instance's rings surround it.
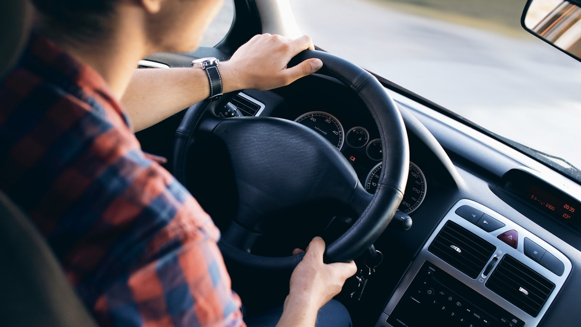
<svg viewBox="0 0 581 327">
<path fill-rule="evenodd" d="M 578 208 L 576 201 L 565 201 L 536 185 L 529 185 L 524 195 L 530 204 L 554 218 L 574 222 L 575 225 L 579 222 L 581 208 Z"/>
</svg>

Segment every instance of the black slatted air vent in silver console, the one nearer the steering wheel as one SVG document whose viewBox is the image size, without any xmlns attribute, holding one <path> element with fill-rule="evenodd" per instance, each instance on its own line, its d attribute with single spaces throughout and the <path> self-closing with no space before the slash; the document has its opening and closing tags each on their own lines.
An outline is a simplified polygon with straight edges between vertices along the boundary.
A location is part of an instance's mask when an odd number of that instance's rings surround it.
<svg viewBox="0 0 581 327">
<path fill-rule="evenodd" d="M 428 251 L 476 279 L 496 247 L 453 221 L 444 225 Z"/>
</svg>

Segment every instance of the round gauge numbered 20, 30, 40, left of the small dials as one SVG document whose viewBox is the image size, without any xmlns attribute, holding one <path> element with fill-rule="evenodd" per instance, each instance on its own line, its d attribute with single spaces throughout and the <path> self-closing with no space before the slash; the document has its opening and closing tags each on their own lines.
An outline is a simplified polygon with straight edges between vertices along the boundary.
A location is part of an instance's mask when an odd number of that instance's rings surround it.
<svg viewBox="0 0 581 327">
<path fill-rule="evenodd" d="M 295 122 L 318 132 L 339 150 L 343 147 L 345 131 L 335 116 L 323 111 L 311 111 L 295 119 Z"/>
</svg>

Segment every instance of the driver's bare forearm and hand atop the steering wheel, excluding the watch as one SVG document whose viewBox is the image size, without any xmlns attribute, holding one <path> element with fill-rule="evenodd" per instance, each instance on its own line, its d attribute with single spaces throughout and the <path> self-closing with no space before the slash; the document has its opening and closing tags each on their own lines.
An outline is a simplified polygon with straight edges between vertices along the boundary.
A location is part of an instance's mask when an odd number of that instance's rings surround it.
<svg viewBox="0 0 581 327">
<path fill-rule="evenodd" d="M 290 40 L 280 35 L 256 35 L 229 61 L 218 66 L 223 92 L 246 88 L 270 90 L 312 74 L 322 66 L 319 59 L 309 59 L 291 68 L 286 65 L 299 52 L 313 48 L 308 36 Z M 206 99 L 209 94 L 208 79 L 202 69 L 137 69 L 122 102 L 134 131 L 139 131 Z"/>
</svg>

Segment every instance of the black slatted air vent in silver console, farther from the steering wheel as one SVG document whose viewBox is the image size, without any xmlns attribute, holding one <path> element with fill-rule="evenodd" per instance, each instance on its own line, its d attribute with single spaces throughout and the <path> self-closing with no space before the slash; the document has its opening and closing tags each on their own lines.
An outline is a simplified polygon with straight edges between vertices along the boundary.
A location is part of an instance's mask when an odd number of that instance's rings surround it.
<svg viewBox="0 0 581 327">
<path fill-rule="evenodd" d="M 532 317 L 537 317 L 555 284 L 505 254 L 490 275 L 486 287 Z"/>
</svg>

